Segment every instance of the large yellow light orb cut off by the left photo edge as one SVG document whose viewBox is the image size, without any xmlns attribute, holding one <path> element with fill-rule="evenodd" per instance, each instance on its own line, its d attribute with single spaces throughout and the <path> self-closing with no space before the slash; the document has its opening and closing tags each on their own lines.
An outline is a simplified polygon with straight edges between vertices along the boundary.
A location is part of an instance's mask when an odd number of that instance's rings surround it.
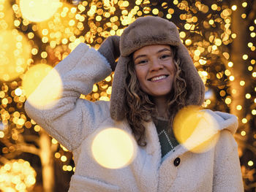
<svg viewBox="0 0 256 192">
<path fill-rule="evenodd" d="M 25 72 L 31 46 L 17 30 L 0 31 L 0 80 L 11 81 Z"/>
</svg>

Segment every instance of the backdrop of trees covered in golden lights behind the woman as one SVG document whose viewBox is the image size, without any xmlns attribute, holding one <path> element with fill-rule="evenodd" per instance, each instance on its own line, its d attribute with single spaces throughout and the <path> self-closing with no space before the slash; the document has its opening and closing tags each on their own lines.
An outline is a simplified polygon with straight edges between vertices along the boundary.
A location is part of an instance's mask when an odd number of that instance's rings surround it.
<svg viewBox="0 0 256 192">
<path fill-rule="evenodd" d="M 0 12 L 0 37 L 2 31 L 12 31 L 17 42 L 12 41 L 10 45 L 15 47 L 18 43 L 20 49 L 29 49 L 28 58 L 19 57 L 21 50 L 14 56 L 19 58 L 15 64 L 20 67 L 15 66 L 15 70 L 20 76 L 11 77 L 11 73 L 0 69 L 0 161 L 3 166 L 14 158 L 29 161 L 37 171 L 36 185 L 44 183 L 44 191 L 53 191 L 54 173 L 56 185 L 69 183 L 75 170 L 71 153 L 50 138 L 23 110 L 28 92 L 23 86 L 26 73 L 39 64 L 56 66 L 80 42 L 97 49 L 106 37 L 121 35 L 135 18 L 158 15 L 172 20 L 179 28 L 180 37 L 206 85 L 203 107 L 238 116 L 236 139 L 244 186 L 246 191 L 255 190 L 255 169 L 252 169 L 256 161 L 255 0 L 61 2 L 48 20 L 42 19 L 44 14 L 38 20 L 31 20 L 28 14 L 22 13 L 20 1 L 12 0 L 10 4 L 0 1 L 4 7 Z M 4 64 L 4 60 L 0 61 Z M 112 80 L 113 74 L 81 98 L 109 101 Z M 67 191 L 67 187 L 64 185 L 63 191 Z"/>
</svg>

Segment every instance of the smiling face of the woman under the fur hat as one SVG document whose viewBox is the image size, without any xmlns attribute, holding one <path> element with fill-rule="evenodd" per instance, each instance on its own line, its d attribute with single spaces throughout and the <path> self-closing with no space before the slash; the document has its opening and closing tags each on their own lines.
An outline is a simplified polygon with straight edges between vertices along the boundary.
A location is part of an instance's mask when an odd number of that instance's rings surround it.
<svg viewBox="0 0 256 192">
<path fill-rule="evenodd" d="M 157 98 L 167 96 L 173 88 L 176 69 L 169 45 L 148 45 L 133 54 L 140 88 Z"/>
</svg>

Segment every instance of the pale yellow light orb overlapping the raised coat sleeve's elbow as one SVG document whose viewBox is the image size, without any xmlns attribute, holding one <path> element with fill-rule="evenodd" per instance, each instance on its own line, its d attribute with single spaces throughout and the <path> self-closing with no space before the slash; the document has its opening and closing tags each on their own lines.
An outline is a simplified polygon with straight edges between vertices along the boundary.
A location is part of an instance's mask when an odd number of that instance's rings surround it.
<svg viewBox="0 0 256 192">
<path fill-rule="evenodd" d="M 37 88 L 39 84 L 40 87 Z M 53 107 L 62 94 L 61 77 L 56 69 L 47 64 L 32 66 L 24 74 L 22 86 L 29 104 L 37 108 L 49 109 Z"/>
</svg>

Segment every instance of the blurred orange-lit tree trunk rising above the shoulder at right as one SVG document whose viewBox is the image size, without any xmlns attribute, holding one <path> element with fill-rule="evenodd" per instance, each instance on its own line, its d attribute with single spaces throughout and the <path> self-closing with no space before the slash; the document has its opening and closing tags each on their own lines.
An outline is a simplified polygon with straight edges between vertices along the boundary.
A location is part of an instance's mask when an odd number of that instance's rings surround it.
<svg viewBox="0 0 256 192">
<path fill-rule="evenodd" d="M 240 1 L 233 1 L 233 4 L 241 6 Z M 236 34 L 236 38 L 233 39 L 231 47 L 231 61 L 233 61 L 233 68 L 231 69 L 232 75 L 235 80 L 230 82 L 232 102 L 230 104 L 230 112 L 238 117 L 239 127 L 244 126 L 241 120 L 246 115 L 246 87 L 248 86 L 248 80 L 246 77 L 246 62 L 243 60 L 243 54 L 246 53 L 248 47 L 246 47 L 246 22 L 242 15 L 242 9 L 239 7 L 232 14 L 232 32 Z M 240 85 L 240 82 L 244 80 L 246 84 Z M 242 109 L 237 110 L 237 106 L 241 105 Z"/>
</svg>

